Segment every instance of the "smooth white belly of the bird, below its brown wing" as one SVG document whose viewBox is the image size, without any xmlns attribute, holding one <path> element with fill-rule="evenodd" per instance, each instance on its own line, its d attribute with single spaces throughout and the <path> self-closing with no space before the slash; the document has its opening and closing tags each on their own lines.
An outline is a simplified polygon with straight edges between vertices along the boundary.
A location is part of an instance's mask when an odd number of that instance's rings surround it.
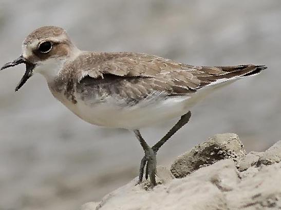
<svg viewBox="0 0 281 210">
<path fill-rule="evenodd" d="M 94 105 L 82 100 L 77 100 L 76 104 L 62 98 L 59 100 L 74 114 L 91 124 L 110 128 L 140 129 L 180 117 L 187 113 L 201 96 L 202 94 L 196 93 L 192 97 L 171 97 L 155 102 L 142 101 L 130 107 L 119 106 L 110 99 Z"/>
</svg>

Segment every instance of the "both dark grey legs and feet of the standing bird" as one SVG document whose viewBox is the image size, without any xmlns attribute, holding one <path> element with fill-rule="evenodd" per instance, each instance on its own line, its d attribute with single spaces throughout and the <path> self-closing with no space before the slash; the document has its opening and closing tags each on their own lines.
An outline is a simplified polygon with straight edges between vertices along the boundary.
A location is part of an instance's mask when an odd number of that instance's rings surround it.
<svg viewBox="0 0 281 210">
<path fill-rule="evenodd" d="M 145 171 L 145 178 L 147 179 L 148 176 L 151 180 L 151 185 L 154 187 L 156 185 L 156 154 L 160 147 L 173 136 L 183 125 L 189 122 L 191 117 L 191 112 L 184 114 L 181 116 L 179 121 L 174 125 L 174 127 L 166 133 L 166 135 L 161 138 L 152 148 L 148 146 L 145 140 L 142 138 L 139 130 L 134 130 L 137 138 L 139 139 L 141 146 L 144 150 L 144 157 L 141 160 L 140 165 L 140 174 L 139 174 L 139 181 L 138 183 L 142 182 L 143 173 L 144 173 L 144 166 L 146 164 L 146 171 Z"/>
</svg>

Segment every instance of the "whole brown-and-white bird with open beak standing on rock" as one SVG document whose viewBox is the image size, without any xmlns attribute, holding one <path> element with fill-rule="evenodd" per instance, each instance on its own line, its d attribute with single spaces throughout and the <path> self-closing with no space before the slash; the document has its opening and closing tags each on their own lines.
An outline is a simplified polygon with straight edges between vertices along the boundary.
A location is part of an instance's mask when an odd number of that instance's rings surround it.
<svg viewBox="0 0 281 210">
<path fill-rule="evenodd" d="M 156 153 L 191 116 L 189 109 L 222 84 L 258 74 L 266 66 L 201 67 L 153 55 L 79 50 L 66 31 L 55 26 L 34 30 L 24 40 L 22 55 L 1 70 L 25 64 L 15 91 L 33 73 L 42 74 L 55 98 L 83 120 L 134 131 L 144 150 L 139 183 L 156 185 Z M 139 129 L 181 117 L 154 146 Z M 145 167 L 146 165 L 146 167 Z"/>
</svg>

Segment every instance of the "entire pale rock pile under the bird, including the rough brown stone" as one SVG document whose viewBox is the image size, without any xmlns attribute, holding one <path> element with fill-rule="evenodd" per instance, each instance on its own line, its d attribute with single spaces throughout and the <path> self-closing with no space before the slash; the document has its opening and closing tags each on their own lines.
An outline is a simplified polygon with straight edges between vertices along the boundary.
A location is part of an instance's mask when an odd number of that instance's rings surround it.
<svg viewBox="0 0 281 210">
<path fill-rule="evenodd" d="M 159 167 L 153 190 L 135 178 L 80 210 L 281 209 L 280 157 L 281 141 L 246 155 L 236 134 L 218 134 L 179 156 L 171 171 Z"/>
</svg>

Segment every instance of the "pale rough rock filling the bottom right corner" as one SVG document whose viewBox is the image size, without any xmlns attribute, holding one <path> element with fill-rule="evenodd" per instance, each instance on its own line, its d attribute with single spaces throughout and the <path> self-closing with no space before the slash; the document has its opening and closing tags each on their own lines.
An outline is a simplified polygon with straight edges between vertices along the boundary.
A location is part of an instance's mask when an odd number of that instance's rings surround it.
<svg viewBox="0 0 281 210">
<path fill-rule="evenodd" d="M 226 194 L 228 209 L 281 209 L 281 163 L 262 167 Z"/>
</svg>

